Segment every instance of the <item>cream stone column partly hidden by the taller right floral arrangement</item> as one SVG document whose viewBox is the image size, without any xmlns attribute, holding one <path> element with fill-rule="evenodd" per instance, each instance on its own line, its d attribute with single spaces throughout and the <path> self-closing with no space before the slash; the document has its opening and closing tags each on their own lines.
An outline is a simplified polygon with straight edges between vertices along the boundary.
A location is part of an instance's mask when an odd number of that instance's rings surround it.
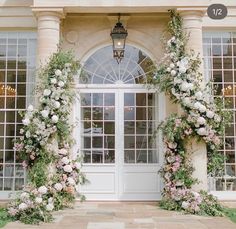
<svg viewBox="0 0 236 229">
<path fill-rule="evenodd" d="M 180 16 L 183 18 L 183 27 L 189 34 L 187 50 L 194 50 L 196 54 L 203 56 L 202 46 L 202 17 L 205 13 L 203 10 L 183 9 L 179 10 Z M 200 71 L 203 73 L 203 64 Z M 203 76 L 204 77 L 204 76 Z M 187 150 L 191 153 L 191 161 L 195 171 L 193 177 L 197 178 L 200 183 L 194 185 L 195 191 L 207 190 L 207 150 L 206 144 L 196 142 L 195 139 L 189 142 Z"/>
</svg>

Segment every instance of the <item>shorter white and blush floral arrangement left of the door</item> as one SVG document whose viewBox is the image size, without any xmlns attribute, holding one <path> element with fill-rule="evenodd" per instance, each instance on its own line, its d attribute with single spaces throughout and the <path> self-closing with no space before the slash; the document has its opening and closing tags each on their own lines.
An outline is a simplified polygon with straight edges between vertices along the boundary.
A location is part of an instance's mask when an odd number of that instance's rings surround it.
<svg viewBox="0 0 236 229">
<path fill-rule="evenodd" d="M 8 213 L 24 223 L 49 222 L 51 212 L 70 207 L 85 182 L 81 159 L 72 157 L 69 122 L 75 98 L 73 80 L 79 69 L 69 52 L 58 51 L 40 73 L 37 108 L 22 113 L 22 136 L 14 147 L 27 168 L 27 186 L 8 206 Z"/>
</svg>

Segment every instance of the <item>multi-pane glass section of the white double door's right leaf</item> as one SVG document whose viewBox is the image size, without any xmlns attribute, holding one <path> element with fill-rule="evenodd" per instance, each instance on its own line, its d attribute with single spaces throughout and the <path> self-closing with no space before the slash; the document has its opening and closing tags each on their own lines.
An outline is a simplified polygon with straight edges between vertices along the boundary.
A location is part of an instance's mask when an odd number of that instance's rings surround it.
<svg viewBox="0 0 236 229">
<path fill-rule="evenodd" d="M 155 94 L 124 94 L 125 163 L 157 163 Z"/>
</svg>

